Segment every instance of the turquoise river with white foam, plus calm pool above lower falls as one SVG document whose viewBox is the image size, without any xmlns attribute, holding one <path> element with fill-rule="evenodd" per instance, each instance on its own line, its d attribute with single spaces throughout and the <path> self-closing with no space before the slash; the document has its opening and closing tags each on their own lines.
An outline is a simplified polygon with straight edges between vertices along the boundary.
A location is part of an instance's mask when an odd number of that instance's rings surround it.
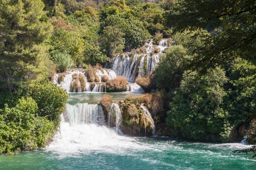
<svg viewBox="0 0 256 170">
<path fill-rule="evenodd" d="M 123 100 L 126 94 L 112 95 Z M 70 94 L 68 103 L 95 103 L 102 95 Z M 63 120 L 60 132 L 48 147 L 0 155 L 0 170 L 255 170 L 252 154 L 232 153 L 248 147 L 240 143 L 123 136 L 105 126 L 70 125 Z"/>
</svg>

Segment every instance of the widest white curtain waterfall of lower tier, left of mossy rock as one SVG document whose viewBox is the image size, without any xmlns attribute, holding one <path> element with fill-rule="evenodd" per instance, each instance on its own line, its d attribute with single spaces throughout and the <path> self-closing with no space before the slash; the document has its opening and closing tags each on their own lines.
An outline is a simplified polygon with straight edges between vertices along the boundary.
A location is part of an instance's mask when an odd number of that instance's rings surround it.
<svg viewBox="0 0 256 170">
<path fill-rule="evenodd" d="M 104 123 L 104 116 L 101 105 L 89 103 L 67 104 L 64 112 L 64 119 L 70 125 L 77 124 L 98 124 Z"/>
</svg>

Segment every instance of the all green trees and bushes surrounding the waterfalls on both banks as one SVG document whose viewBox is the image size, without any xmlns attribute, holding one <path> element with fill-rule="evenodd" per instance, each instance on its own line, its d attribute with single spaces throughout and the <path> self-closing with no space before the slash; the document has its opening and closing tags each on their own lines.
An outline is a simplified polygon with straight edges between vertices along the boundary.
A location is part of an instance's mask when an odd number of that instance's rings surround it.
<svg viewBox="0 0 256 170">
<path fill-rule="evenodd" d="M 154 74 L 136 80 L 154 93 L 130 103 L 146 103 L 175 136 L 226 142 L 248 123 L 255 143 L 255 20 L 252 0 L 0 0 L 0 153 L 51 140 L 67 100 L 49 83 L 53 73 L 84 67 L 89 82 L 100 82 L 96 70 L 115 53 L 145 52 L 145 42 L 167 37 L 172 47 Z M 84 91 L 85 80 L 73 79 L 75 91 L 78 81 Z M 127 85 L 123 78 L 102 82 L 109 92 Z"/>
</svg>

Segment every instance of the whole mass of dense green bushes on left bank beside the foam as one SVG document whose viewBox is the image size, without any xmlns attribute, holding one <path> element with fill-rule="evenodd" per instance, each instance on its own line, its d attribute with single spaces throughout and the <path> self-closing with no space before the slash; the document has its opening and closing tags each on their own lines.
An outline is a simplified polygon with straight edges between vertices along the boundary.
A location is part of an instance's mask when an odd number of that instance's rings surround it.
<svg viewBox="0 0 256 170">
<path fill-rule="evenodd" d="M 6 97 L 2 95 L 1 97 Z M 68 95 L 51 83 L 19 88 L 0 109 L 0 153 L 45 147 L 55 134 Z"/>
</svg>

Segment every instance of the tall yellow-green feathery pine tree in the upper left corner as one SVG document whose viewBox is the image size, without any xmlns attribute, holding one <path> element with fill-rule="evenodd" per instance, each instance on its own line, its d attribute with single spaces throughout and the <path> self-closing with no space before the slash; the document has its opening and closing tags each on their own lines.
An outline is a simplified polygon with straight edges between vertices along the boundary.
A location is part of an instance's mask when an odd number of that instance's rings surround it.
<svg viewBox="0 0 256 170">
<path fill-rule="evenodd" d="M 43 8 L 41 0 L 0 0 L 0 82 L 9 90 L 38 67 L 38 45 L 51 31 Z"/>
</svg>

